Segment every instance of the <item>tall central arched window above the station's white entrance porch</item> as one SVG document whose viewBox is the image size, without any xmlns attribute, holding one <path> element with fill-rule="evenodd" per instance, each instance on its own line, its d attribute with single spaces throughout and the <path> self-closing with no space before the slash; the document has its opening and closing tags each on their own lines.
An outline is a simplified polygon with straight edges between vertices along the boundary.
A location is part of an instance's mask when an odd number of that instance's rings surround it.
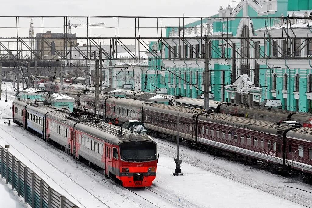
<svg viewBox="0 0 312 208">
<path fill-rule="evenodd" d="M 241 37 L 246 37 L 241 39 L 241 75 L 247 74 L 248 77 L 250 77 L 250 44 L 248 42 L 250 33 L 249 27 L 247 27 L 246 25 L 241 32 Z"/>
</svg>

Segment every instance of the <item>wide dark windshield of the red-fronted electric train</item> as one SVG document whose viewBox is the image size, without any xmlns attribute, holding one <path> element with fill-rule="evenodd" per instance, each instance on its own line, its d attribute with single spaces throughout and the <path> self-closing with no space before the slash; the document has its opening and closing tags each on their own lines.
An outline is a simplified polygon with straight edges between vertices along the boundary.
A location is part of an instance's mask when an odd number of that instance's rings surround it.
<svg viewBox="0 0 312 208">
<path fill-rule="evenodd" d="M 150 141 L 127 141 L 120 144 L 123 161 L 143 162 L 156 160 L 156 144 Z"/>
</svg>

